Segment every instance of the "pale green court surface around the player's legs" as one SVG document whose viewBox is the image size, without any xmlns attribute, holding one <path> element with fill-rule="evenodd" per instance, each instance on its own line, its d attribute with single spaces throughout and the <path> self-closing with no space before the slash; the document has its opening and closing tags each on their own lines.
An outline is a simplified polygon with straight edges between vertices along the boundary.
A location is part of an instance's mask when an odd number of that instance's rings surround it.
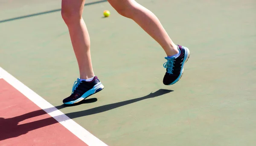
<svg viewBox="0 0 256 146">
<path fill-rule="evenodd" d="M 109 146 L 256 145 L 255 0 L 137 0 L 190 49 L 172 86 L 162 83 L 163 49 L 95 2 L 83 17 L 104 90 L 62 106 L 79 71 L 61 0 L 0 2 L 0 66 Z"/>
</svg>

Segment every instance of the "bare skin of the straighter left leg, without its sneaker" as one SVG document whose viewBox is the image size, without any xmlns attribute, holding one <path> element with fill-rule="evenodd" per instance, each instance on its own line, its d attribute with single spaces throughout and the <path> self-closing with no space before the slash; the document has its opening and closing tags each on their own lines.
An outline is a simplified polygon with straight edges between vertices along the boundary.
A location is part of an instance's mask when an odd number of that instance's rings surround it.
<svg viewBox="0 0 256 146">
<path fill-rule="evenodd" d="M 67 24 L 79 65 L 81 79 L 94 77 L 90 56 L 90 37 L 82 18 L 85 0 L 62 0 L 61 15 Z"/>
</svg>

